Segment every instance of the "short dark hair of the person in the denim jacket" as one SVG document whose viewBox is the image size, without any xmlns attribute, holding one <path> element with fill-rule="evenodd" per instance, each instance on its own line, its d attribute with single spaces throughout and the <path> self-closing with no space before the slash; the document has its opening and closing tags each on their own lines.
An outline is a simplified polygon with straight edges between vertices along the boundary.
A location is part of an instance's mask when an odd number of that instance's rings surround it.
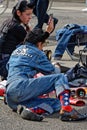
<svg viewBox="0 0 87 130">
<path fill-rule="evenodd" d="M 32 44 L 37 44 L 38 42 L 44 43 L 47 38 L 48 36 L 42 29 L 34 28 L 32 31 L 27 33 L 24 42 L 29 42 Z"/>
</svg>

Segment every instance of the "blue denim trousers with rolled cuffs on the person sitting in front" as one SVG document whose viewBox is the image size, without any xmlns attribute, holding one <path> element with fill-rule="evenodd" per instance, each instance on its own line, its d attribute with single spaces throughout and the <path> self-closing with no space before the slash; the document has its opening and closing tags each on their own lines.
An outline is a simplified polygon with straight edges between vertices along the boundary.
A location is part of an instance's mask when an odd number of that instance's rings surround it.
<svg viewBox="0 0 87 130">
<path fill-rule="evenodd" d="M 19 104 L 26 107 L 35 107 L 45 103 L 55 112 L 60 110 L 61 107 L 58 99 L 39 98 L 38 96 L 55 90 L 58 97 L 65 89 L 69 89 L 69 86 L 67 78 L 63 74 L 52 74 L 30 79 L 16 76 L 14 81 L 7 83 L 7 102 L 14 110 L 17 109 Z"/>
</svg>

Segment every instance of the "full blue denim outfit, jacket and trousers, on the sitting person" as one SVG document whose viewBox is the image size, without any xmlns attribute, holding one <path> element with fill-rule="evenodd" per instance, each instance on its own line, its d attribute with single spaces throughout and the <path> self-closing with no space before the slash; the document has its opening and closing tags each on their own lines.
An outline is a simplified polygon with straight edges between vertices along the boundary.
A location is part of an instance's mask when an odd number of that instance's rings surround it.
<svg viewBox="0 0 87 130">
<path fill-rule="evenodd" d="M 7 67 L 6 96 L 12 109 L 17 109 L 18 104 L 35 107 L 43 103 L 52 108 L 51 112 L 60 109 L 58 99 L 38 97 L 53 90 L 58 96 L 65 89 L 69 89 L 67 77 L 64 74 L 56 74 L 55 67 L 43 51 L 31 43 L 21 45 L 12 53 Z M 33 78 L 39 72 L 45 76 Z"/>
</svg>

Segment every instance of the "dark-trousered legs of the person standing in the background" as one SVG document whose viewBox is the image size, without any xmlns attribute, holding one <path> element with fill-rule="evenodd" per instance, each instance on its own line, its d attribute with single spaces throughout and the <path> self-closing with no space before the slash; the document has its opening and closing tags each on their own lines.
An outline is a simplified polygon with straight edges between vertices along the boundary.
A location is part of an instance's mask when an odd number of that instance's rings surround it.
<svg viewBox="0 0 87 130">
<path fill-rule="evenodd" d="M 30 2 L 35 6 L 34 14 L 37 16 L 38 23 L 35 27 L 42 28 L 43 24 L 48 24 L 50 16 L 47 14 L 47 9 L 49 6 L 49 0 L 30 0 Z M 54 19 L 54 28 L 58 22 L 57 18 Z"/>
</svg>

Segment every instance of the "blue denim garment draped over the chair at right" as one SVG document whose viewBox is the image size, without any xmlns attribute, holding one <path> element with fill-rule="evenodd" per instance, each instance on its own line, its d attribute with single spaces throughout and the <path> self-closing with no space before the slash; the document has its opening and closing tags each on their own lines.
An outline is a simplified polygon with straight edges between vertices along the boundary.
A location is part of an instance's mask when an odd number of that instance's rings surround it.
<svg viewBox="0 0 87 130">
<path fill-rule="evenodd" d="M 77 33 L 87 32 L 87 26 L 81 26 L 77 24 L 68 24 L 64 28 L 59 29 L 56 32 L 56 40 L 57 46 L 55 48 L 54 57 L 58 57 L 59 55 L 63 55 L 67 45 L 70 43 L 70 39 L 73 35 Z M 71 45 L 71 53 L 74 50 L 75 45 Z"/>
</svg>

